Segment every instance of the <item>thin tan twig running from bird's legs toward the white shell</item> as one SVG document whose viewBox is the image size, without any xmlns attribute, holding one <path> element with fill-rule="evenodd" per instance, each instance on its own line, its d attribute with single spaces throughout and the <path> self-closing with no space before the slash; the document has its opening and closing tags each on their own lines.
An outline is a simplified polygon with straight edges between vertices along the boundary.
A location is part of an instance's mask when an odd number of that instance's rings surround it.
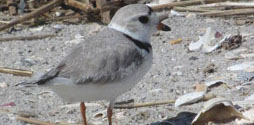
<svg viewBox="0 0 254 125">
<path fill-rule="evenodd" d="M 168 100 L 168 101 L 161 101 L 161 102 L 147 102 L 147 103 L 140 103 L 134 105 L 115 105 L 114 108 L 116 109 L 132 109 L 132 108 L 139 108 L 139 107 L 148 107 L 148 106 L 156 106 L 156 105 L 164 105 L 169 103 L 174 103 L 175 100 Z"/>
</svg>

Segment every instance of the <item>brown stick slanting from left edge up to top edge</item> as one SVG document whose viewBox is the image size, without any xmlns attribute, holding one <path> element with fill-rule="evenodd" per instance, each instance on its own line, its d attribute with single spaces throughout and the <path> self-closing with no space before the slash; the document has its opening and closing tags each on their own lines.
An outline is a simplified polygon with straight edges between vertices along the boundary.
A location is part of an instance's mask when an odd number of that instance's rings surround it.
<svg viewBox="0 0 254 125">
<path fill-rule="evenodd" d="M 37 16 L 39 16 L 39 15 L 41 15 L 41 14 L 43 14 L 43 13 L 45 13 L 45 12 L 47 12 L 47 11 L 53 9 L 53 8 L 55 8 L 56 6 L 60 5 L 62 2 L 63 2 L 63 0 L 54 0 L 54 1 L 52 1 L 52 2 L 50 2 L 48 4 L 46 4 L 46 5 L 38 8 L 38 9 L 36 9 L 36 10 L 34 10 L 33 12 L 31 12 L 29 14 L 26 14 L 25 16 L 23 16 L 21 18 L 18 18 L 18 19 L 15 19 L 15 20 L 11 21 L 9 24 L 1 26 L 0 27 L 0 31 L 5 30 L 5 29 L 7 29 L 9 27 L 12 27 L 12 26 L 14 26 L 16 24 L 22 23 L 24 21 L 27 21 L 27 20 L 29 20 L 31 18 L 37 17 Z"/>
</svg>

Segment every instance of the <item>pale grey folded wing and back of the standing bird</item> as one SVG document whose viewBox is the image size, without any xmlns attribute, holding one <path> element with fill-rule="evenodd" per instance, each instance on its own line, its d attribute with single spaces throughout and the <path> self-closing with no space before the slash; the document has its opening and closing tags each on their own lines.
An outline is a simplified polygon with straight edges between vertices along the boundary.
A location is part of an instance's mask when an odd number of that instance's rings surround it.
<svg viewBox="0 0 254 125">
<path fill-rule="evenodd" d="M 122 33 L 107 28 L 78 44 L 37 84 L 55 77 L 68 78 L 76 84 L 116 81 L 135 72 L 143 61 L 144 57 L 133 42 Z"/>
</svg>

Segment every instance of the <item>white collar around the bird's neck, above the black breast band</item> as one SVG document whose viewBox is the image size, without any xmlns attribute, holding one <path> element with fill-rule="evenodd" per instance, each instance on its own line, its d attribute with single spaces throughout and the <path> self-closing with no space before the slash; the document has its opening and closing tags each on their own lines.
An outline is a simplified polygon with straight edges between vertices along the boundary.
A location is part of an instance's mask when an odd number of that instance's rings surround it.
<svg viewBox="0 0 254 125">
<path fill-rule="evenodd" d="M 145 43 L 150 43 L 151 34 L 149 34 L 149 33 L 147 33 L 147 34 L 133 33 L 133 32 L 130 32 L 128 29 L 123 28 L 123 27 L 121 27 L 121 26 L 119 26 L 118 24 L 115 24 L 115 23 L 110 23 L 108 25 L 108 27 L 111 28 L 111 29 L 117 30 L 119 32 L 122 32 L 122 33 L 132 37 L 133 39 L 136 39 L 136 40 L 139 40 L 139 41 L 145 42 Z"/>
</svg>

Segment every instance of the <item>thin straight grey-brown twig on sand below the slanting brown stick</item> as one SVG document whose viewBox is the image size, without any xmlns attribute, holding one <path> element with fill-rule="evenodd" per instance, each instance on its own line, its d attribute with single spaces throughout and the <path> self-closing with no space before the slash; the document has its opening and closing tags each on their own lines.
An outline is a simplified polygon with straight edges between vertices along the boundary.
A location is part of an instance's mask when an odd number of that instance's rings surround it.
<svg viewBox="0 0 254 125">
<path fill-rule="evenodd" d="M 33 35 L 33 36 L 14 36 L 8 38 L 0 38 L 0 42 L 12 41 L 12 40 L 34 40 L 34 39 L 43 39 L 47 37 L 55 37 L 55 34 L 45 34 L 45 35 Z"/>
</svg>

